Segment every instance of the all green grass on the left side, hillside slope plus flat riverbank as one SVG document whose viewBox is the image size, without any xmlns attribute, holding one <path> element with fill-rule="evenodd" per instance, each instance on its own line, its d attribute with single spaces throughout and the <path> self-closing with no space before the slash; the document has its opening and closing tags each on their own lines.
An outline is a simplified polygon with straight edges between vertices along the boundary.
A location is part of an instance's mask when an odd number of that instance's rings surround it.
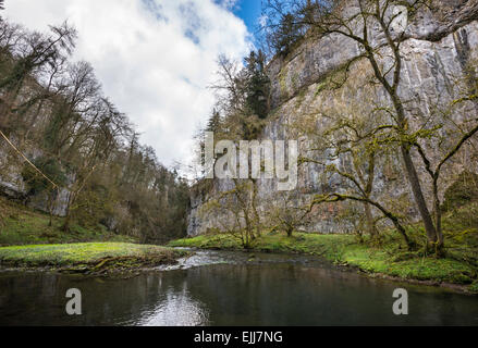
<svg viewBox="0 0 478 348">
<path fill-rule="evenodd" d="M 174 263 L 187 252 L 137 245 L 135 238 L 115 235 L 105 226 L 72 224 L 61 231 L 54 217 L 0 198 L 0 265 L 49 268 L 95 275 L 131 273 L 140 268 Z M 88 243 L 90 241 L 90 243 Z"/>
</svg>

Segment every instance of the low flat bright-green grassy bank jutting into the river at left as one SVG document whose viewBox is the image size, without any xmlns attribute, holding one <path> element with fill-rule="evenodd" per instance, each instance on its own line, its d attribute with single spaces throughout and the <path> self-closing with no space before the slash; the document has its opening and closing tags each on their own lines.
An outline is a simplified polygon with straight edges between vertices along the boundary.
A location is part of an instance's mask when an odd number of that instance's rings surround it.
<svg viewBox="0 0 478 348">
<path fill-rule="evenodd" d="M 171 248 L 127 243 L 16 246 L 0 248 L 0 265 L 109 275 L 171 264 L 185 254 Z"/>
</svg>

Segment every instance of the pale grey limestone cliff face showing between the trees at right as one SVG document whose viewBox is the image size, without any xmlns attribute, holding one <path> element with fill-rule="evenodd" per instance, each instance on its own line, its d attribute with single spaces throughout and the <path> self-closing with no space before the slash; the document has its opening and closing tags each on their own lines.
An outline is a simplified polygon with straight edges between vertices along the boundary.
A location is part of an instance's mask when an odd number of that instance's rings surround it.
<svg viewBox="0 0 478 348">
<path fill-rule="evenodd" d="M 469 62 L 478 60 L 478 1 L 436 1 L 436 9 L 415 13 L 413 17 L 404 12 L 404 17 L 396 21 L 396 32 L 405 32 L 405 40 L 401 46 L 403 57 L 402 85 L 400 95 L 403 100 L 409 100 L 407 112 L 412 114 L 415 126 L 424 124 L 424 120 L 436 117 L 437 110 L 450 104 L 459 92 L 456 80 L 463 79 Z M 352 4 L 353 5 L 353 4 Z M 383 40 L 379 34 L 373 36 L 376 42 Z M 294 139 L 291 124 L 301 122 L 311 113 L 320 113 L 324 108 L 336 104 L 357 105 L 364 103 L 364 98 L 375 94 L 375 101 L 387 102 L 387 96 L 380 90 L 357 88 L 360 82 L 371 77 L 372 70 L 365 59 L 356 60 L 347 74 L 347 82 L 332 92 L 326 92 L 333 76 L 341 69 L 360 55 L 360 49 L 355 41 L 339 34 L 321 38 L 310 38 L 292 52 L 286 59 L 274 59 L 269 65 L 272 83 L 272 104 L 274 111 L 269 115 L 269 123 L 262 132 L 262 139 Z M 339 77 L 338 77 L 339 78 Z M 452 119 L 463 121 L 463 114 L 476 114 L 473 103 L 464 105 Z M 320 124 L 317 125 L 320 129 Z M 413 126 L 413 125 L 412 125 Z M 301 139 L 301 136 L 297 136 Z M 303 139 L 304 140 L 304 139 Z M 431 149 L 433 152 L 433 149 Z M 438 156 L 438 154 L 437 154 Z M 418 162 L 418 161 L 416 161 Z M 463 170 L 466 159 L 455 163 L 453 172 Z M 409 186 L 401 173 L 401 163 L 384 165 L 377 174 L 376 196 L 406 198 L 403 213 L 410 219 L 417 217 L 415 204 L 409 195 Z M 477 172 L 476 163 L 468 163 L 467 170 Z M 422 183 L 427 182 L 424 167 L 418 166 Z M 311 195 L 330 191 L 340 187 L 340 178 L 330 178 L 326 183 L 320 179 L 323 169 L 315 164 L 299 167 L 297 190 L 304 201 Z M 275 181 L 259 179 L 259 210 L 265 214 L 267 207 L 273 203 Z M 426 186 L 426 185 L 425 185 Z M 201 188 L 199 188 L 201 187 Z M 208 185 L 200 183 L 193 190 L 191 212 L 188 217 L 188 235 L 198 235 L 210 228 L 220 226 L 219 222 L 225 216 L 205 213 L 204 203 L 231 187 L 231 183 L 215 179 Z M 429 202 L 430 189 L 425 187 Z M 431 206 L 431 204 L 430 204 Z M 320 206 L 310 223 L 303 229 L 321 233 L 343 233 L 353 228 L 353 223 L 346 219 L 338 219 L 342 207 L 340 204 Z M 431 209 L 431 207 L 430 207 Z"/>
</svg>

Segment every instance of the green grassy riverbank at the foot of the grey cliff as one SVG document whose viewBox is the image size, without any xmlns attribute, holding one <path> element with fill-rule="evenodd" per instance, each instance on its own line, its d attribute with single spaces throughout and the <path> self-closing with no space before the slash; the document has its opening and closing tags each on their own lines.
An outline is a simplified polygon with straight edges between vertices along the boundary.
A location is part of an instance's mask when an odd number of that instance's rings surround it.
<svg viewBox="0 0 478 348">
<path fill-rule="evenodd" d="M 240 239 L 215 234 L 171 241 L 170 247 L 243 250 Z M 380 248 L 360 244 L 355 235 L 319 235 L 295 233 L 263 234 L 250 251 L 289 252 L 319 256 L 340 265 L 356 268 L 370 276 L 445 286 L 455 290 L 478 293 L 478 269 L 454 257 L 436 259 L 419 252 L 407 252 L 392 240 Z"/>
</svg>

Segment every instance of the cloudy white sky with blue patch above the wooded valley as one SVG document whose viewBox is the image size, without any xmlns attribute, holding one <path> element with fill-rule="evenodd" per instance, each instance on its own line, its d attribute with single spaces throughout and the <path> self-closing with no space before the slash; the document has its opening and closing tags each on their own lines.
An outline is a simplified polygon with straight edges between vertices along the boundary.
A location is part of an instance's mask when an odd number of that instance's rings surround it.
<svg viewBox="0 0 478 348">
<path fill-rule="evenodd" d="M 260 0 L 7 0 L 4 12 L 40 32 L 74 25 L 73 60 L 91 63 L 105 95 L 170 167 L 193 159 L 218 55 L 247 55 L 259 15 Z"/>
</svg>

